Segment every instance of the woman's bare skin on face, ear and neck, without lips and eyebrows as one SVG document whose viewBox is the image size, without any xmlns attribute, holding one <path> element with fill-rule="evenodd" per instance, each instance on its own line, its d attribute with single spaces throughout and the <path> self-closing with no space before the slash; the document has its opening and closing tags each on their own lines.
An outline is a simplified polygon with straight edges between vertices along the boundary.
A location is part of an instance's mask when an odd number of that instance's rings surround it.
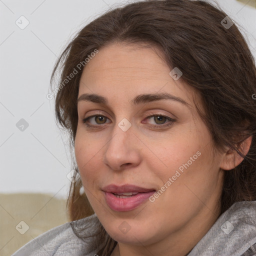
<svg viewBox="0 0 256 256">
<path fill-rule="evenodd" d="M 79 84 L 78 97 L 95 93 L 108 99 L 107 105 L 78 102 L 74 149 L 89 202 L 118 242 L 111 256 L 188 254 L 219 216 L 223 170 L 242 161 L 228 148 L 213 155 L 211 135 L 193 103 L 193 97 L 200 103 L 199 95 L 182 76 L 174 80 L 160 56 L 159 50 L 142 44 L 108 44 L 87 63 Z M 189 106 L 168 99 L 131 103 L 138 94 L 161 92 L 180 97 Z M 82 122 L 98 113 L 105 119 L 88 121 L 98 128 Z M 175 121 L 163 127 L 169 121 L 147 118 L 153 114 Z M 118 126 L 123 118 L 131 123 L 127 131 Z M 245 142 L 247 153 L 251 138 Z M 130 183 L 157 191 L 197 151 L 200 156 L 155 201 L 120 212 L 106 204 L 102 187 Z M 125 234 L 118 228 L 123 221 L 130 226 Z"/>
</svg>

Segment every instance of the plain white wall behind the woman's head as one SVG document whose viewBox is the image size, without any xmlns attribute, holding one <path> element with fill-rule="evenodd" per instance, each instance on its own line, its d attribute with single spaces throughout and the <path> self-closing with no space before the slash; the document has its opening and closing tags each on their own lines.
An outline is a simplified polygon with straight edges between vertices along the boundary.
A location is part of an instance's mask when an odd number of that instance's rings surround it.
<svg viewBox="0 0 256 256">
<path fill-rule="evenodd" d="M 54 98 L 46 98 L 50 74 L 74 33 L 124 2 L 131 0 L 0 0 L 0 193 L 66 197 L 69 141 L 55 123 Z M 255 57 L 256 8 L 217 2 L 243 27 Z M 21 15 L 29 21 L 24 29 L 15 24 Z M 16 127 L 21 118 L 24 131 Z"/>
</svg>

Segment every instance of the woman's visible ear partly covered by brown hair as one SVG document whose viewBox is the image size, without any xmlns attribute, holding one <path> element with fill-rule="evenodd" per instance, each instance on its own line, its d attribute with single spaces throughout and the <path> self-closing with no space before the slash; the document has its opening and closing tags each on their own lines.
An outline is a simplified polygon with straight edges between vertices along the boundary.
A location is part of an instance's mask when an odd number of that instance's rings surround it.
<svg viewBox="0 0 256 256">
<path fill-rule="evenodd" d="M 239 151 L 246 155 L 251 145 L 252 135 L 244 139 L 240 143 Z M 224 153 L 224 157 L 221 160 L 220 168 L 223 170 L 231 170 L 235 166 L 239 165 L 244 158 L 240 156 L 235 150 L 229 150 Z"/>
</svg>

